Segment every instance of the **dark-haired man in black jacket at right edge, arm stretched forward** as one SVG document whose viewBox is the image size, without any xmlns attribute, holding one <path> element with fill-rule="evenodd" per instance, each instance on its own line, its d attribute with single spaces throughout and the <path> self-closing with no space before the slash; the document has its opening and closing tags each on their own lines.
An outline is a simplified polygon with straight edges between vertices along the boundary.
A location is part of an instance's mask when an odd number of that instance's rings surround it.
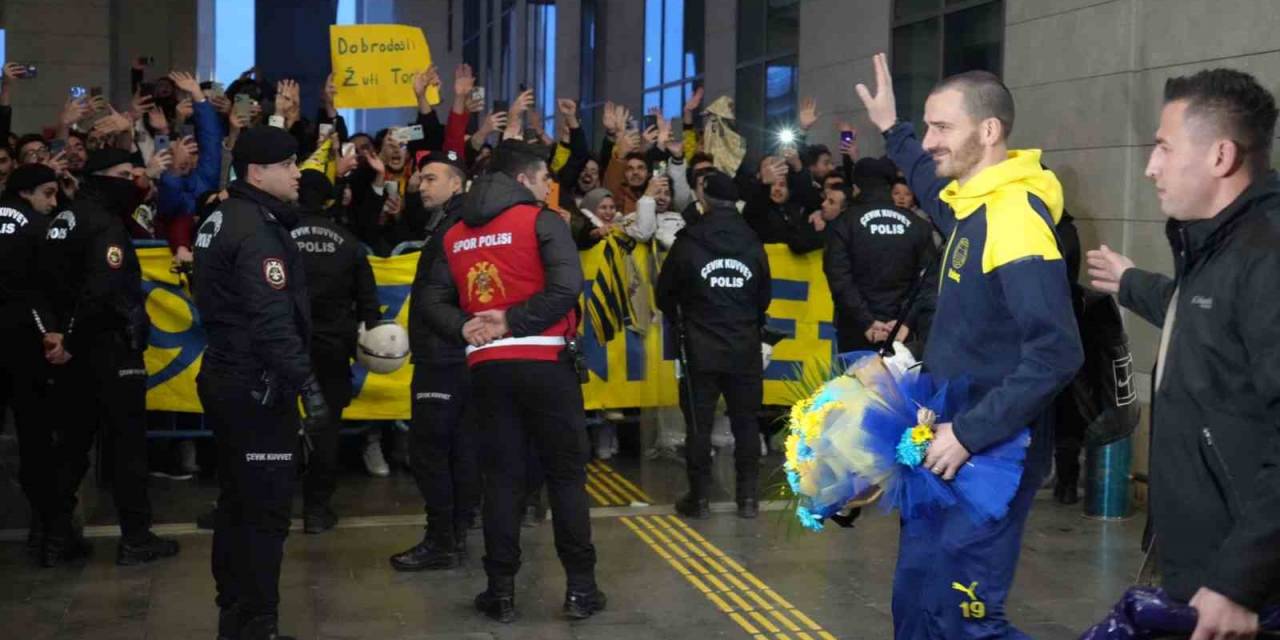
<svg viewBox="0 0 1280 640">
<path fill-rule="evenodd" d="M 1165 84 L 1147 164 L 1175 275 L 1106 246 L 1093 285 L 1162 326 L 1152 392 L 1151 517 L 1169 595 L 1193 640 L 1253 637 L 1280 602 L 1280 179 L 1275 99 L 1245 73 Z"/>
</svg>

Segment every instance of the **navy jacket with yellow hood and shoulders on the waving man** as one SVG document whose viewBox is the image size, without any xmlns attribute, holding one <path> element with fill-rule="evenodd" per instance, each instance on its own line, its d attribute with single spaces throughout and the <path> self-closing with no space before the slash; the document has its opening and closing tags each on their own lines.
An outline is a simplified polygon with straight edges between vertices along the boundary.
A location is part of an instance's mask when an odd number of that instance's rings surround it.
<svg viewBox="0 0 1280 640">
<path fill-rule="evenodd" d="M 890 159 L 948 237 L 924 364 L 943 380 L 970 384 L 956 438 L 978 453 L 1029 426 L 1027 465 L 1047 465 L 1048 411 L 1084 360 L 1055 233 L 1062 186 L 1041 166 L 1038 150 L 1010 151 L 961 186 L 937 177 L 910 123 L 884 137 Z"/>
</svg>

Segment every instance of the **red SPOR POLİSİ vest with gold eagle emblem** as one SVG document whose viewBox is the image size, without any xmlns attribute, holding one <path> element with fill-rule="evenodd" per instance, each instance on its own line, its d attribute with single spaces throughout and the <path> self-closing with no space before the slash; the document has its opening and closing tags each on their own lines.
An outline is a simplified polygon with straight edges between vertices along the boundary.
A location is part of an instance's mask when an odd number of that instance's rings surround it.
<svg viewBox="0 0 1280 640">
<path fill-rule="evenodd" d="M 444 256 L 468 315 L 507 310 L 543 291 L 543 257 L 538 252 L 536 205 L 516 205 L 483 227 L 454 224 L 444 234 Z M 577 330 L 575 311 L 539 335 L 504 337 L 484 347 L 467 347 L 467 365 L 497 360 L 559 358 Z"/>
</svg>

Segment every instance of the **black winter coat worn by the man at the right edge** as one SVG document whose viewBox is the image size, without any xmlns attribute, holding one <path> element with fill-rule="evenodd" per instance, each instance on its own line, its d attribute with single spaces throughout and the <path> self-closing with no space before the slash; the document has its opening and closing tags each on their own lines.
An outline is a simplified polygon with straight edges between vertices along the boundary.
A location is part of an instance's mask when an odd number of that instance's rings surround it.
<svg viewBox="0 0 1280 640">
<path fill-rule="evenodd" d="M 1129 269 L 1120 283 L 1121 305 L 1172 321 L 1151 413 L 1164 586 L 1258 611 L 1280 600 L 1280 179 L 1166 233 L 1176 276 Z"/>
</svg>

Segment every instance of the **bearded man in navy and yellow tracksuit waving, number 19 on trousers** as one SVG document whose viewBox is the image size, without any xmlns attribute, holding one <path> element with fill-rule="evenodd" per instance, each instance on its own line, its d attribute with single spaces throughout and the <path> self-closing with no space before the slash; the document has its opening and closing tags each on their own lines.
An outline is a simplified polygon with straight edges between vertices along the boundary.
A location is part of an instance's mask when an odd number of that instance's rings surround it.
<svg viewBox="0 0 1280 640">
<path fill-rule="evenodd" d="M 1053 225 L 1062 186 L 1038 150 L 1009 150 L 1014 99 L 996 76 L 942 81 L 924 105 L 923 145 L 899 122 L 884 54 L 876 95 L 858 84 L 888 157 L 948 238 L 924 365 L 965 378 L 969 403 L 937 426 L 924 467 L 943 480 L 975 453 L 1030 428 L 1021 481 L 1009 513 L 975 522 L 964 509 L 904 520 L 893 577 L 899 639 L 1028 637 L 1005 617 L 1023 527 L 1050 468 L 1053 398 L 1084 361 L 1066 268 Z"/>
</svg>

